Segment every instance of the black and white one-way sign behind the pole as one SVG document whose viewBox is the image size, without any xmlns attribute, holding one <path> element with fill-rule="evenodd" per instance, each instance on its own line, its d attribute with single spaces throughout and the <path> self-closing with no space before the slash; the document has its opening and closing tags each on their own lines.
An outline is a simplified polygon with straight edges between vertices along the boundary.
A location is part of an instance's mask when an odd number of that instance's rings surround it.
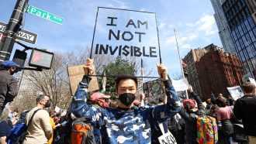
<svg viewBox="0 0 256 144">
<path fill-rule="evenodd" d="M 0 33 L 4 33 L 7 24 L 4 22 L 0 22 Z M 27 43 L 36 43 L 37 34 L 29 32 L 27 30 L 21 29 L 17 34 L 17 39 L 22 40 Z"/>
</svg>

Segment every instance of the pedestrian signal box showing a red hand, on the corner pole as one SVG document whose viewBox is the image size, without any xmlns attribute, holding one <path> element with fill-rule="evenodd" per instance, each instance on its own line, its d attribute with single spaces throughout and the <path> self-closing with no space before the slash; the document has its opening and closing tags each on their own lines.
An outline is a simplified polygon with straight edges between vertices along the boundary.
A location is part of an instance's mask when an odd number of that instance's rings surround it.
<svg viewBox="0 0 256 144">
<path fill-rule="evenodd" d="M 54 53 L 50 53 L 45 50 L 33 49 L 29 59 L 29 66 L 50 69 L 53 59 Z"/>
</svg>

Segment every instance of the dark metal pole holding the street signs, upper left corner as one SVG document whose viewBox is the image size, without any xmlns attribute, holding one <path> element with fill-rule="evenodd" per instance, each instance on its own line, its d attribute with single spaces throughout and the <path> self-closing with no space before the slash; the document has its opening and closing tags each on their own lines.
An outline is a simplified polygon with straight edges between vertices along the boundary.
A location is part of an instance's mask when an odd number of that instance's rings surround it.
<svg viewBox="0 0 256 144">
<path fill-rule="evenodd" d="M 29 0 L 17 0 L 16 2 L 12 16 L 0 42 L 0 61 L 9 60 L 11 57 L 16 36 L 19 33 L 20 26 L 22 26 L 23 12 L 28 2 Z"/>
</svg>

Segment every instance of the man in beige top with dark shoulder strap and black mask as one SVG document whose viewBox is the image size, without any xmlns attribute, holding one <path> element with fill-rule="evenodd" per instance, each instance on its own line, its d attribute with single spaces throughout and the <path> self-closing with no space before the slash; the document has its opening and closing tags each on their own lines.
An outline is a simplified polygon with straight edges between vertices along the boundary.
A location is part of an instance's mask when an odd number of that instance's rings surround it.
<svg viewBox="0 0 256 144">
<path fill-rule="evenodd" d="M 40 95 L 36 98 L 36 107 L 33 108 L 26 115 L 25 123 L 26 125 L 31 123 L 27 128 L 26 138 L 24 140 L 24 144 L 31 143 L 47 143 L 48 140 L 53 135 L 53 130 L 50 125 L 50 116 L 49 113 L 43 108 L 50 107 L 50 98 L 47 95 Z M 40 109 L 39 111 L 37 111 Z M 34 114 L 34 112 L 36 113 Z M 33 115 L 34 114 L 34 115 Z M 33 115 L 33 119 L 31 119 Z"/>
</svg>

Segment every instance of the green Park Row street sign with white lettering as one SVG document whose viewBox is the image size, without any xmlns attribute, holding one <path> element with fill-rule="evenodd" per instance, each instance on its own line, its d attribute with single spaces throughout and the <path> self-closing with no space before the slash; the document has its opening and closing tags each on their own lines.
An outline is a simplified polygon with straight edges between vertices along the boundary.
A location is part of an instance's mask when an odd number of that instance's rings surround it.
<svg viewBox="0 0 256 144">
<path fill-rule="evenodd" d="M 51 14 L 50 12 L 43 11 L 42 9 L 38 9 L 32 5 L 29 5 L 29 9 L 27 9 L 26 12 L 32 15 L 39 16 L 40 18 L 50 20 L 51 22 L 56 22 L 60 25 L 63 24 L 63 18 L 57 15 Z"/>
</svg>

